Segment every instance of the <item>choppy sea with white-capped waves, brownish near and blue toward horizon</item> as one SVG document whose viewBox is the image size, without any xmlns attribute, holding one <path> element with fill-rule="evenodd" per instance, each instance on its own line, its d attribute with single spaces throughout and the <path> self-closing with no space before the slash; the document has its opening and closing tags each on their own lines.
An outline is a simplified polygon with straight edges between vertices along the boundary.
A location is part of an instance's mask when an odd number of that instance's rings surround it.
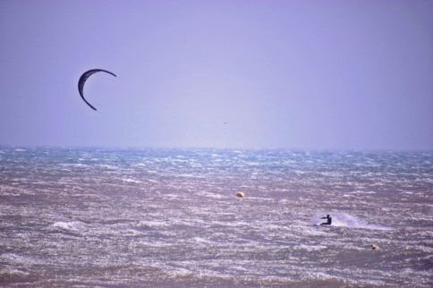
<svg viewBox="0 0 433 288">
<path fill-rule="evenodd" d="M 433 287 L 433 152 L 1 147 L 0 286 Z"/>
</svg>

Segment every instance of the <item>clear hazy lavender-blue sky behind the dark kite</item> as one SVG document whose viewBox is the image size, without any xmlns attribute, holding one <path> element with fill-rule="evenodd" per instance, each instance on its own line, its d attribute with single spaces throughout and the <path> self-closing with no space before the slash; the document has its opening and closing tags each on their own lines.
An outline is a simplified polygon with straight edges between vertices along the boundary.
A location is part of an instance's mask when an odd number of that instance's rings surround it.
<svg viewBox="0 0 433 288">
<path fill-rule="evenodd" d="M 0 145 L 433 149 L 433 1 L 0 0 Z M 89 69 L 99 72 L 84 88 Z"/>
</svg>

